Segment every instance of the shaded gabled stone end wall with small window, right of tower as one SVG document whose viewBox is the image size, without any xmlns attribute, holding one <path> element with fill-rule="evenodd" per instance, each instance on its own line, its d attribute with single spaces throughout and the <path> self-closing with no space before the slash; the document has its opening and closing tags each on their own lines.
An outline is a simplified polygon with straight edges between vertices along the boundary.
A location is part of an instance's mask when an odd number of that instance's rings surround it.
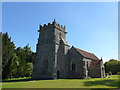
<svg viewBox="0 0 120 90">
<path fill-rule="evenodd" d="M 69 78 L 83 78 L 83 57 L 74 48 L 68 52 L 68 77 Z M 75 67 L 75 69 L 74 69 Z"/>
</svg>

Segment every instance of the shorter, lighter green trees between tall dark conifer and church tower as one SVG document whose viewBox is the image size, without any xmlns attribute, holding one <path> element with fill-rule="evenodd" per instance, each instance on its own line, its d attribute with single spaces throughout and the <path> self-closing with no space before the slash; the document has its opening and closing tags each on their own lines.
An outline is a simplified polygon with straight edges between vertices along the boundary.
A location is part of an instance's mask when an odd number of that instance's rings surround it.
<svg viewBox="0 0 120 90">
<path fill-rule="evenodd" d="M 15 52 L 19 57 L 19 66 L 18 66 L 18 74 L 19 75 L 18 76 L 19 77 L 24 77 L 24 76 L 31 75 L 32 66 L 30 66 L 30 62 L 33 59 L 33 54 L 32 54 L 33 52 L 31 51 L 31 48 L 29 47 L 29 44 L 27 44 L 23 48 L 18 47 L 15 50 Z"/>
</svg>

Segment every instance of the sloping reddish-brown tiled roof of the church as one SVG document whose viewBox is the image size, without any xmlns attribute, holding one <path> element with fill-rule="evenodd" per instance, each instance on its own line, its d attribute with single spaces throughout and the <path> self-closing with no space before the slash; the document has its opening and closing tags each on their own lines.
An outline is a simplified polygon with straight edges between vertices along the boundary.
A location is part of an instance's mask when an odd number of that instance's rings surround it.
<svg viewBox="0 0 120 90">
<path fill-rule="evenodd" d="M 75 48 L 82 56 L 88 59 L 99 60 L 94 54 L 81 50 L 79 48 Z"/>
</svg>

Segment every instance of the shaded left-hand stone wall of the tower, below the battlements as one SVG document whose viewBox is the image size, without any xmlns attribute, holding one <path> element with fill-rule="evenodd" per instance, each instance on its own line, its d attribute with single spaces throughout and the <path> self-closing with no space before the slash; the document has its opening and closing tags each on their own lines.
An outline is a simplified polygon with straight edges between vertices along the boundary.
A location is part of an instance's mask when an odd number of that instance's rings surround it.
<svg viewBox="0 0 120 90">
<path fill-rule="evenodd" d="M 33 79 L 54 78 L 55 66 L 55 34 L 54 27 L 42 27 L 39 30 L 38 44 L 33 65 Z M 44 72 L 44 57 L 48 58 L 48 69 Z"/>
</svg>

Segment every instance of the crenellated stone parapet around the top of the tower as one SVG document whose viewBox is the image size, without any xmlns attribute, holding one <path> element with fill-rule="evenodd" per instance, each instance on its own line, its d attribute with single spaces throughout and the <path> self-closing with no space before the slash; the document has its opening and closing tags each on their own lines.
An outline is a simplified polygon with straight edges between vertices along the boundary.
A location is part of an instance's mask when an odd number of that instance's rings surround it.
<svg viewBox="0 0 120 90">
<path fill-rule="evenodd" d="M 44 24 L 44 25 L 41 25 L 41 24 L 40 24 L 38 32 L 40 32 L 41 30 L 49 29 L 49 28 L 51 28 L 51 27 L 54 27 L 54 28 L 57 28 L 57 29 L 59 29 L 59 30 L 62 30 L 62 31 L 64 31 L 64 32 L 66 32 L 66 27 L 65 27 L 65 25 L 62 26 L 62 25 L 60 25 L 59 23 L 56 23 L 55 19 L 54 19 L 54 21 L 53 21 L 52 23 L 49 22 L 48 24 Z"/>
</svg>

